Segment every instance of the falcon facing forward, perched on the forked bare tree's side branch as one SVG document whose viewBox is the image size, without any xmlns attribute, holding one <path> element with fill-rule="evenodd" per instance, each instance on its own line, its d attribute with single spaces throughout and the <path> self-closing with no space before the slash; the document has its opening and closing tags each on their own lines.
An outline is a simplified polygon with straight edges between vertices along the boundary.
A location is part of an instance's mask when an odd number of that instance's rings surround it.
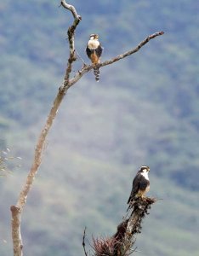
<svg viewBox="0 0 199 256">
<path fill-rule="evenodd" d="M 91 60 L 93 64 L 96 66 L 94 67 L 94 75 L 95 75 L 95 80 L 99 82 L 99 59 L 102 54 L 103 48 L 101 47 L 101 44 L 99 43 L 99 36 L 97 34 L 91 34 L 90 39 L 88 40 L 87 43 L 87 55 L 88 58 Z"/>
</svg>

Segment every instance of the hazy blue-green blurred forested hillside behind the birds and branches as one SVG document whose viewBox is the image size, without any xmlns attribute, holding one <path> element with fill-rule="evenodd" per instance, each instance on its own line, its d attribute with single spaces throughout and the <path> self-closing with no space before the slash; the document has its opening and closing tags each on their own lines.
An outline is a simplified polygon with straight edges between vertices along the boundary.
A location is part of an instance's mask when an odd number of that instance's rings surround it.
<svg viewBox="0 0 199 256">
<path fill-rule="evenodd" d="M 22 216 L 26 256 L 83 255 L 82 233 L 111 236 L 132 179 L 151 166 L 158 201 L 136 246 L 147 256 L 198 256 L 199 3 L 72 1 L 76 47 L 99 33 L 102 60 L 164 31 L 139 53 L 87 73 L 65 96 Z M 65 73 L 71 13 L 60 1 L 0 3 L 0 145 L 12 174 L 0 178 L 0 255 L 12 255 L 9 207 L 26 180 L 37 137 Z M 77 60 L 74 73 L 82 66 Z M 21 165 L 18 168 L 18 165 Z"/>
</svg>

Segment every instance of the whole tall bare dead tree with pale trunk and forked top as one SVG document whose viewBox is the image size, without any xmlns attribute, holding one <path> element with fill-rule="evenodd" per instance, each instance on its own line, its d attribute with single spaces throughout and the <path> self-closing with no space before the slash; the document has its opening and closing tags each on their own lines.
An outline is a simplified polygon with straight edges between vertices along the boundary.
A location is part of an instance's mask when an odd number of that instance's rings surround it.
<svg viewBox="0 0 199 256">
<path fill-rule="evenodd" d="M 71 77 L 71 68 L 74 61 L 77 60 L 77 52 L 75 49 L 75 31 L 77 26 L 79 25 L 80 21 L 82 20 L 81 16 L 77 14 L 77 10 L 71 4 L 62 0 L 60 5 L 69 10 L 73 15 L 73 23 L 69 26 L 67 35 L 68 35 L 68 43 L 69 43 L 69 58 L 67 61 L 66 69 L 65 69 L 65 77 L 63 84 L 60 86 L 57 95 L 54 98 L 54 103 L 52 108 L 48 113 L 48 118 L 46 120 L 45 125 L 43 126 L 43 130 L 41 131 L 40 136 L 37 140 L 37 145 L 35 148 L 34 157 L 32 160 L 31 170 L 29 171 L 26 177 L 26 183 L 24 184 L 23 188 L 20 191 L 20 195 L 18 201 L 14 206 L 10 207 L 12 212 L 12 239 L 13 239 L 13 247 L 14 247 L 14 256 L 22 256 L 23 255 L 23 242 L 21 238 L 20 232 L 20 223 L 21 223 L 21 214 L 23 209 L 26 205 L 27 195 L 32 187 L 34 178 L 37 175 L 38 168 L 42 162 L 43 150 L 45 146 L 46 137 L 48 136 L 48 131 L 53 125 L 54 118 L 56 117 L 56 113 L 60 108 L 60 104 L 63 101 L 67 90 L 73 85 L 76 84 L 79 79 L 82 78 L 82 75 L 88 73 L 91 69 L 94 68 L 93 65 L 85 65 L 83 64 L 82 68 L 77 71 L 77 73 Z M 128 55 L 133 55 L 140 48 L 142 48 L 145 44 L 147 44 L 151 39 L 156 38 L 157 36 L 161 36 L 163 32 L 156 32 L 140 42 L 134 49 L 130 49 L 128 52 L 123 53 L 121 55 L 117 55 L 116 57 L 112 58 L 111 60 L 104 61 L 99 64 L 99 67 L 105 67 L 106 65 L 111 65 L 116 61 L 120 61 L 123 58 L 127 57 Z"/>
</svg>

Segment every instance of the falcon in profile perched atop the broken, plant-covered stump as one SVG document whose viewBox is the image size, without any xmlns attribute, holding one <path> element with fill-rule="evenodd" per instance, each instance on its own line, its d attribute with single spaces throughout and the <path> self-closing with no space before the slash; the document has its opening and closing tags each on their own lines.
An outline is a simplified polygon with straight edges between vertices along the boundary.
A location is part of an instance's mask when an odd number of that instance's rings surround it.
<svg viewBox="0 0 199 256">
<path fill-rule="evenodd" d="M 150 172 L 149 166 L 141 166 L 139 172 L 137 172 L 133 181 L 133 188 L 131 190 L 131 195 L 128 198 L 128 209 L 131 207 L 131 203 L 134 202 L 137 198 L 141 197 L 142 199 L 145 197 L 145 193 L 147 193 L 150 189 L 150 180 L 148 173 Z"/>
</svg>

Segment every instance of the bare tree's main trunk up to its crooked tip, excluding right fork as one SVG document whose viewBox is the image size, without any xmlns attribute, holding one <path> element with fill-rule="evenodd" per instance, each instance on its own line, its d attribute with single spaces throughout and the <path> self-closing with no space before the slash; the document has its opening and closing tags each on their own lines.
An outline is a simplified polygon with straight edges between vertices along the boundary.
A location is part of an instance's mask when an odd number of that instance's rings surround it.
<svg viewBox="0 0 199 256">
<path fill-rule="evenodd" d="M 65 1 L 61 1 L 61 5 L 64 6 L 66 9 L 69 9 L 74 17 L 73 24 L 68 29 L 70 56 L 69 56 L 66 71 L 65 71 L 64 84 L 60 87 L 60 90 L 58 91 L 58 94 L 54 99 L 54 105 L 51 108 L 50 113 L 48 114 L 46 124 L 44 125 L 43 131 L 41 132 L 38 138 L 34 158 L 31 165 L 31 170 L 26 178 L 26 183 L 24 184 L 24 187 L 20 191 L 17 205 L 10 207 L 10 210 L 12 212 L 12 237 L 13 237 L 13 246 L 14 246 L 14 256 L 22 256 L 23 254 L 22 238 L 20 234 L 20 216 L 24 206 L 26 205 L 27 195 L 31 189 L 34 178 L 36 177 L 38 167 L 42 162 L 43 149 L 45 146 L 45 140 L 48 135 L 48 131 L 53 125 L 53 121 L 58 112 L 58 108 L 60 107 L 60 103 L 62 102 L 65 96 L 66 90 L 69 88 L 68 83 L 69 83 L 72 63 L 73 61 L 76 61 L 74 35 L 75 35 L 75 30 L 77 28 L 77 25 L 81 20 L 81 16 L 77 15 L 76 9 L 73 6 L 65 3 Z"/>
</svg>

